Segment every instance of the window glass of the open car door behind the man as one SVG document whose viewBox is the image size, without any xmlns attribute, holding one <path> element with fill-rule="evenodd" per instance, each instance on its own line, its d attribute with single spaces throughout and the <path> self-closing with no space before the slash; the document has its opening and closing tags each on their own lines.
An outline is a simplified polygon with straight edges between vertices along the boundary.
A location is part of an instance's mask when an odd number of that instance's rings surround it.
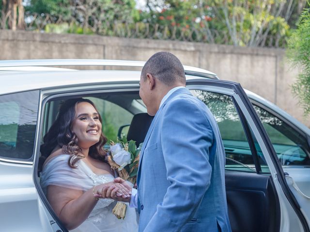
<svg viewBox="0 0 310 232">
<path fill-rule="evenodd" d="M 230 96 L 192 90 L 214 115 L 226 153 L 226 170 L 256 172 L 248 139 Z"/>
</svg>

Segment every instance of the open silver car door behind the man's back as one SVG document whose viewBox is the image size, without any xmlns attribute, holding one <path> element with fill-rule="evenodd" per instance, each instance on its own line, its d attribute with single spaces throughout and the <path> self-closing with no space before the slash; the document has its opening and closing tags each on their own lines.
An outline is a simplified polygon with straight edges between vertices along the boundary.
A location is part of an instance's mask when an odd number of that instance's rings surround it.
<svg viewBox="0 0 310 232">
<path fill-rule="evenodd" d="M 309 231 L 277 154 L 239 84 L 188 80 L 214 114 L 226 152 L 226 191 L 233 231 Z"/>
</svg>

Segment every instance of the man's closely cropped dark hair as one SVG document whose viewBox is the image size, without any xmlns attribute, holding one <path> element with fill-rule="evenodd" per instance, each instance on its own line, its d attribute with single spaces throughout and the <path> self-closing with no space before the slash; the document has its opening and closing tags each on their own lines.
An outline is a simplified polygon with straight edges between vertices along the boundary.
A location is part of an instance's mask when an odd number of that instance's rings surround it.
<svg viewBox="0 0 310 232">
<path fill-rule="evenodd" d="M 150 73 L 166 86 L 172 86 L 177 82 L 186 83 L 181 61 L 170 52 L 157 52 L 149 58 L 141 71 L 144 80 L 146 73 Z"/>
</svg>

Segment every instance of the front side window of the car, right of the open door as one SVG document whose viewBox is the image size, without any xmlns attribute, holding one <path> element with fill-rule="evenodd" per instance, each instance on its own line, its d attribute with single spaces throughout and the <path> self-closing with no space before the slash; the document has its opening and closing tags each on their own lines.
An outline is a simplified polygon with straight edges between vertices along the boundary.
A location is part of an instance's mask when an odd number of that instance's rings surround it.
<svg viewBox="0 0 310 232">
<path fill-rule="evenodd" d="M 270 141 L 283 166 L 285 165 L 309 165 L 310 154 L 307 138 L 294 130 L 287 123 L 264 110 L 253 105 L 260 117 Z"/>
</svg>

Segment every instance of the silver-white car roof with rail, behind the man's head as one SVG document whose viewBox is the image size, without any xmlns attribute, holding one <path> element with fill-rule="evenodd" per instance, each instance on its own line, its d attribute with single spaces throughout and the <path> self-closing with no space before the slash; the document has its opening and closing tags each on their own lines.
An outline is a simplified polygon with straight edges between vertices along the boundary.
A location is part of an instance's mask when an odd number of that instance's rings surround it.
<svg viewBox="0 0 310 232">
<path fill-rule="evenodd" d="M 143 61 L 104 60 L 104 59 L 42 59 L 42 60 L 3 60 L 0 61 L 0 94 L 8 94 L 33 89 L 85 86 L 105 82 L 139 82 L 140 71 L 117 70 L 76 70 L 49 66 L 117 66 L 143 67 Z M 47 66 L 47 67 L 46 67 Z M 184 66 L 186 78 L 218 79 L 215 73 Z M 57 74 L 56 74 L 57 73 Z"/>
</svg>

